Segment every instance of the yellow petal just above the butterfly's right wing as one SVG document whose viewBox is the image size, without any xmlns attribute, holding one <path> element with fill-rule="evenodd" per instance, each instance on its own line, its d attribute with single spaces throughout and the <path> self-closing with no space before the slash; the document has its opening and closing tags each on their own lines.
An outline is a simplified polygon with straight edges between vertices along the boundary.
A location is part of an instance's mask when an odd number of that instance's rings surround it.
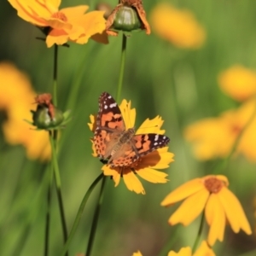
<svg viewBox="0 0 256 256">
<path fill-rule="evenodd" d="M 160 130 L 164 120 L 158 115 L 154 119 L 146 119 L 143 124 L 137 129 L 137 134 L 158 133 L 164 134 L 165 130 Z"/>
</svg>

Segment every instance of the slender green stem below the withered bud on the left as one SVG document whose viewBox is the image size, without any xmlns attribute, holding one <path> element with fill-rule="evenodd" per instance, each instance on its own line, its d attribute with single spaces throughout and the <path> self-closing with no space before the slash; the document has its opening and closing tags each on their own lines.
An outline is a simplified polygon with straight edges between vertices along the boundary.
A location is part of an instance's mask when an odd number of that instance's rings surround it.
<svg viewBox="0 0 256 256">
<path fill-rule="evenodd" d="M 60 208 L 60 213 L 61 213 L 62 232 L 63 232 L 64 243 L 66 243 L 66 241 L 67 241 L 67 224 L 66 224 L 64 206 L 63 206 L 63 200 L 62 200 L 62 194 L 61 194 L 61 176 L 60 176 L 60 170 L 59 170 L 58 161 L 57 161 L 57 154 L 55 151 L 55 138 L 52 136 L 49 136 L 49 141 L 50 141 L 51 150 L 52 150 L 52 161 L 53 161 L 53 165 L 54 165 L 57 198 L 58 198 L 59 208 Z M 68 253 L 66 253 L 66 256 L 68 256 Z"/>
</svg>

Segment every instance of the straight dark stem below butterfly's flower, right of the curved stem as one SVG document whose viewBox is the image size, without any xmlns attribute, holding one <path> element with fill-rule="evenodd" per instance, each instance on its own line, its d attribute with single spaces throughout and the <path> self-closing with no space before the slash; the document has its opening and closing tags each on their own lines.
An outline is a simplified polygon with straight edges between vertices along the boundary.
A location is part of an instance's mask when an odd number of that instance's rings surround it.
<svg viewBox="0 0 256 256">
<path fill-rule="evenodd" d="M 106 176 L 104 176 L 102 179 L 102 187 L 101 187 L 99 199 L 96 205 L 95 213 L 94 213 L 91 228 L 90 228 L 90 237 L 89 237 L 89 241 L 88 241 L 88 245 L 85 253 L 86 256 L 90 256 L 90 253 L 92 250 L 96 229 L 97 229 L 97 224 L 98 224 L 98 219 L 99 219 L 101 207 L 102 207 L 102 201 L 103 201 L 103 195 L 104 195 L 103 191 L 104 191 L 105 183 L 106 183 Z"/>
</svg>

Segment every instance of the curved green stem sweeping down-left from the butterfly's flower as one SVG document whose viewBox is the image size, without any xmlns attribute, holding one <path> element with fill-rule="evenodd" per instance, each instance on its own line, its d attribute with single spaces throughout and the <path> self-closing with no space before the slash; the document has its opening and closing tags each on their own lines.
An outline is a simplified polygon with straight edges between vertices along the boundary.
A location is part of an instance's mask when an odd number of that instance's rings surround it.
<svg viewBox="0 0 256 256">
<path fill-rule="evenodd" d="M 97 178 L 96 180 L 90 185 L 90 188 L 87 190 L 87 192 L 85 193 L 84 195 L 84 198 L 83 198 L 83 201 L 81 201 L 81 204 L 80 204 L 80 207 L 79 207 L 79 211 L 77 213 L 77 216 L 75 218 L 75 221 L 73 223 L 73 227 L 72 227 L 72 230 L 70 231 L 70 234 L 68 236 L 68 239 L 65 243 L 65 246 L 63 247 L 62 251 L 61 251 L 61 256 L 64 256 L 65 253 L 67 252 L 67 249 L 70 245 L 70 242 L 72 241 L 73 239 L 73 236 L 75 234 L 75 231 L 77 230 L 78 226 L 79 226 L 79 221 L 82 217 L 82 214 L 83 214 L 83 211 L 84 211 L 84 207 L 86 205 L 86 202 L 88 201 L 89 197 L 90 197 L 90 194 L 91 192 L 93 191 L 93 189 L 96 187 L 96 184 L 102 179 L 103 177 L 103 173 L 101 173 Z"/>
</svg>

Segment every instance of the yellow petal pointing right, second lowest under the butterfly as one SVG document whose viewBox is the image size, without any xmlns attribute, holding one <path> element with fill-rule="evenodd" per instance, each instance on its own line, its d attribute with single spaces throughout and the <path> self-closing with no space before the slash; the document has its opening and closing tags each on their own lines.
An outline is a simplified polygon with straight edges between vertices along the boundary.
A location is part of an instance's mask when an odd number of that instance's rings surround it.
<svg viewBox="0 0 256 256">
<path fill-rule="evenodd" d="M 147 180 L 149 183 L 166 183 L 168 181 L 166 179 L 168 174 L 165 172 L 158 172 L 150 168 L 139 170 L 137 175 L 143 177 L 143 179 Z"/>
</svg>

